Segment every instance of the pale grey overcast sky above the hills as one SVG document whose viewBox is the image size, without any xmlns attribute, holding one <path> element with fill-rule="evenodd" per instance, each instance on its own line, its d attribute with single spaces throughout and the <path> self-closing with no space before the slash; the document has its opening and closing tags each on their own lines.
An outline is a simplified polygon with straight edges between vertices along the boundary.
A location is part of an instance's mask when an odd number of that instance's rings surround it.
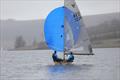
<svg viewBox="0 0 120 80">
<path fill-rule="evenodd" d="M 63 6 L 63 0 L 0 0 L 0 19 L 41 19 L 56 7 Z M 119 0 L 76 0 L 84 15 L 120 12 Z"/>
</svg>

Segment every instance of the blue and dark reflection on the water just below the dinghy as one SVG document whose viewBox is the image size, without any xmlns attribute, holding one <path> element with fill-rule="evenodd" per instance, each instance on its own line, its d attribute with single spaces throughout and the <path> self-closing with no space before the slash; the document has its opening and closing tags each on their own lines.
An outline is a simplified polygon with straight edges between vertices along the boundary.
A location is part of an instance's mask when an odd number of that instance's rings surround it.
<svg viewBox="0 0 120 80">
<path fill-rule="evenodd" d="M 82 64 L 82 65 L 75 65 L 75 64 L 68 64 L 68 65 L 49 65 L 48 71 L 49 73 L 69 73 L 69 72 L 77 72 L 81 70 L 89 70 L 93 67 L 92 64 Z"/>
</svg>

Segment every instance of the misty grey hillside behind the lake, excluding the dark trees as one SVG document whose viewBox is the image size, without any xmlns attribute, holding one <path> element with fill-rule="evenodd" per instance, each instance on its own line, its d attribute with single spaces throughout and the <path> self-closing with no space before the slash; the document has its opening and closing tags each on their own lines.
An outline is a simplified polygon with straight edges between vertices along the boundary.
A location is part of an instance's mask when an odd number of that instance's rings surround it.
<svg viewBox="0 0 120 80">
<path fill-rule="evenodd" d="M 93 47 L 120 47 L 120 13 L 83 16 Z M 41 20 L 0 20 L 2 44 L 4 48 L 13 49 L 15 39 L 22 36 L 26 46 L 32 46 L 33 41 L 44 43 L 44 19 Z M 117 45 L 98 46 L 103 41 L 112 40 Z M 105 42 L 106 43 L 106 42 Z M 103 43 L 104 44 L 104 43 Z M 41 45 L 41 44 L 39 44 Z M 114 46 L 113 46 L 114 45 Z M 42 48 L 45 48 L 43 46 Z"/>
</svg>

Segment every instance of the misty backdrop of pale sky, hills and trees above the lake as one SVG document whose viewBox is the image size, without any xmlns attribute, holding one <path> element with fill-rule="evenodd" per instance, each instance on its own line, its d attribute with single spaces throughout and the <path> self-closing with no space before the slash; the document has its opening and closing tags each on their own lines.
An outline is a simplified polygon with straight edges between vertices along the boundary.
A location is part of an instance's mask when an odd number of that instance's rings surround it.
<svg viewBox="0 0 120 80">
<path fill-rule="evenodd" d="M 63 0 L 0 1 L 1 47 L 3 49 L 46 49 L 45 18 L 51 10 L 63 6 Z M 76 2 L 92 46 L 120 47 L 119 0 L 76 0 Z"/>
</svg>

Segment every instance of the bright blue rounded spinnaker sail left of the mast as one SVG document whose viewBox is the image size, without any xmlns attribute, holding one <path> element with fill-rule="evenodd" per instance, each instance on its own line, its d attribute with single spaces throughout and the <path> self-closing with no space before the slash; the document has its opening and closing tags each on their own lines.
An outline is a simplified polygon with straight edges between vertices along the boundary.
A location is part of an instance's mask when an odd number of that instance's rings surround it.
<svg viewBox="0 0 120 80">
<path fill-rule="evenodd" d="M 50 49 L 64 51 L 64 7 L 49 13 L 44 24 L 44 35 Z"/>
</svg>

